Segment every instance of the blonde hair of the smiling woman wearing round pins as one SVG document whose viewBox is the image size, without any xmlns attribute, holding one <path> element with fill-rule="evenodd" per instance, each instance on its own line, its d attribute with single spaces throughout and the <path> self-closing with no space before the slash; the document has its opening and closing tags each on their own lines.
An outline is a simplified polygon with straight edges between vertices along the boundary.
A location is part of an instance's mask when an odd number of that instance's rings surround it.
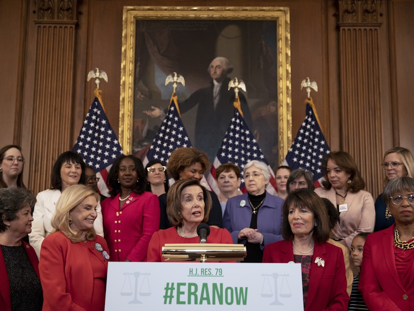
<svg viewBox="0 0 414 311">
<path fill-rule="evenodd" d="M 70 212 L 90 196 L 93 196 L 97 202 L 99 201 L 99 194 L 93 189 L 83 184 L 75 184 L 66 188 L 56 202 L 56 211 L 52 216 L 51 225 L 55 231 L 61 231 L 73 243 L 81 242 L 82 239 L 71 229 Z M 95 237 L 95 229 L 89 229 L 86 238 L 91 241 Z"/>
</svg>

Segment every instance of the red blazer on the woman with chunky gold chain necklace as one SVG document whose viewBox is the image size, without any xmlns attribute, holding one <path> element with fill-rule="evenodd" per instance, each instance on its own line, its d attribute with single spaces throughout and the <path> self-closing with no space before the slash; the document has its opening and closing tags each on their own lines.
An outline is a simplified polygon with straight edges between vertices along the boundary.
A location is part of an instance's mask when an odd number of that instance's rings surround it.
<svg viewBox="0 0 414 311">
<path fill-rule="evenodd" d="M 394 227 L 371 233 L 365 240 L 359 289 L 369 310 L 414 310 L 414 266 L 411 286 L 404 288 L 395 267 Z"/>
</svg>

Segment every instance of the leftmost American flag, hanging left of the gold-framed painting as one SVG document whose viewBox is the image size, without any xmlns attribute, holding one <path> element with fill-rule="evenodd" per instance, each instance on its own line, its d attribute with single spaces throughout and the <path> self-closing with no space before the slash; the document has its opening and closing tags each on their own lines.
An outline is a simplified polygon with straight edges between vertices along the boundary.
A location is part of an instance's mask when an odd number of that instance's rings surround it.
<svg viewBox="0 0 414 311">
<path fill-rule="evenodd" d="M 82 156 L 86 165 L 94 169 L 97 177 L 100 178 L 98 181 L 100 193 L 108 196 L 106 178 L 109 169 L 123 152 L 97 97 L 86 114 L 73 152 Z"/>
</svg>

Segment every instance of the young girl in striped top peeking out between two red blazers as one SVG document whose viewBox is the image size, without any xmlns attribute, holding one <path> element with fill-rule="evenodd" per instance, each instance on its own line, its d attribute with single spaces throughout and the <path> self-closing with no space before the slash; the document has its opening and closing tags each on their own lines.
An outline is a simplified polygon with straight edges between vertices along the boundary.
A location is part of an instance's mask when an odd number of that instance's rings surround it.
<svg viewBox="0 0 414 311">
<path fill-rule="evenodd" d="M 368 233 L 365 232 L 358 233 L 352 240 L 351 259 L 356 267 L 361 267 L 362 265 L 362 253 L 364 252 L 364 244 L 367 235 Z M 358 286 L 360 283 L 359 277 L 359 273 L 354 275 L 348 311 L 368 310 L 368 308 L 366 308 L 364 299 L 362 299 L 361 292 L 358 290 Z"/>
</svg>

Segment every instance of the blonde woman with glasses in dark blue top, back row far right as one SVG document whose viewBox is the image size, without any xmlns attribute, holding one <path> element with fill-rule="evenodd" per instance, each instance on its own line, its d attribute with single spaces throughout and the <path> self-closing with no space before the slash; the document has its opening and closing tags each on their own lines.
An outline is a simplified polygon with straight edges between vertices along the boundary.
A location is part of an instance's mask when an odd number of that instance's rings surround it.
<svg viewBox="0 0 414 311">
<path fill-rule="evenodd" d="M 384 155 L 381 164 L 385 173 L 385 183 L 397 177 L 414 177 L 414 157 L 410 150 L 396 147 Z M 394 223 L 387 205 L 382 201 L 382 193 L 375 201 L 375 228 L 374 232 L 390 227 Z"/>
</svg>

